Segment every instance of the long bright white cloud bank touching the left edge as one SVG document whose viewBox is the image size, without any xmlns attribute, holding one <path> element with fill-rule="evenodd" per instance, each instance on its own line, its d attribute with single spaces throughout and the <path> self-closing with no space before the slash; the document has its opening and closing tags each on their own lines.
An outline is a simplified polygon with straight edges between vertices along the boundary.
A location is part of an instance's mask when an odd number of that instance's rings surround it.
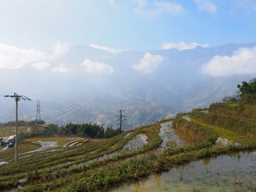
<svg viewBox="0 0 256 192">
<path fill-rule="evenodd" d="M 23 49 L 0 43 L 0 69 L 19 69 L 32 63 L 50 61 L 67 53 L 67 45 L 57 44 L 53 53 L 36 49 Z"/>
</svg>

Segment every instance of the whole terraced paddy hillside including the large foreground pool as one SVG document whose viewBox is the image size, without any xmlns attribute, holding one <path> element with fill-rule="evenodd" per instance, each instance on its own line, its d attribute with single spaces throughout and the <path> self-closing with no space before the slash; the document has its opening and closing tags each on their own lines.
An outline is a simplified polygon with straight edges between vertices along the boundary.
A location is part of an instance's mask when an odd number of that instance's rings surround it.
<svg viewBox="0 0 256 192">
<path fill-rule="evenodd" d="M 252 126 L 246 118 L 195 110 L 83 146 L 72 146 L 82 138 L 58 147 L 37 139 L 52 147 L 18 165 L 4 161 L 0 191 L 255 192 Z"/>
</svg>

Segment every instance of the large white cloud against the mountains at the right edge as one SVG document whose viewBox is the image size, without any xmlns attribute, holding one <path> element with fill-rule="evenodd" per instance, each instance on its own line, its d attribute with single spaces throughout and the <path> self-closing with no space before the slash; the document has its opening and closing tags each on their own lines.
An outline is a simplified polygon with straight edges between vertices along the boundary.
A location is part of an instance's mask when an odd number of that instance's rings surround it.
<svg viewBox="0 0 256 192">
<path fill-rule="evenodd" d="M 256 74 L 256 47 L 236 50 L 232 56 L 216 55 L 202 66 L 202 72 L 211 76 Z"/>
</svg>

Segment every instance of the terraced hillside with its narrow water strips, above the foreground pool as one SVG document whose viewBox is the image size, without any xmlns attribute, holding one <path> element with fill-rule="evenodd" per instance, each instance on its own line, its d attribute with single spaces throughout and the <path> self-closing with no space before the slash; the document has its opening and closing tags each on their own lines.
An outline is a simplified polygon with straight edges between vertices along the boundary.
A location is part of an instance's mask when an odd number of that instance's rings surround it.
<svg viewBox="0 0 256 192">
<path fill-rule="evenodd" d="M 112 139 L 21 155 L 18 164 L 14 164 L 12 158 L 5 159 L 9 163 L 0 166 L 0 191 L 15 188 L 17 191 L 114 190 L 110 187 L 191 161 L 204 158 L 207 162 L 225 153 L 255 150 L 255 117 L 254 105 L 216 103 L 208 109 L 193 110 L 175 119 L 124 131 Z M 0 157 L 3 159 L 1 152 Z M 242 154 L 239 157 L 242 158 Z M 256 169 L 250 170 L 250 189 L 245 185 L 248 180 L 234 181 L 233 176 L 225 179 L 231 180 L 228 186 L 252 191 Z M 219 175 L 219 172 L 222 170 L 211 174 Z M 236 175 L 243 179 L 240 176 Z M 244 185 L 238 185 L 239 182 Z M 221 189 L 227 183 L 218 185 Z"/>
</svg>

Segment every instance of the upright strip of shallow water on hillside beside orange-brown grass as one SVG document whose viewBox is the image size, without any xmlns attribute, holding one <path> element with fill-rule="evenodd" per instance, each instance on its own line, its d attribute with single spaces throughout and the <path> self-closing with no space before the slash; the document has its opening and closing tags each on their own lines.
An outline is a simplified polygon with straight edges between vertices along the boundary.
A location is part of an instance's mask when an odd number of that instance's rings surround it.
<svg viewBox="0 0 256 192">
<path fill-rule="evenodd" d="M 159 130 L 159 137 L 162 138 L 162 144 L 160 146 L 162 148 L 165 148 L 170 145 L 175 145 L 177 147 L 186 145 L 186 143 L 175 134 L 172 128 L 172 123 L 172 121 L 167 121 L 161 124 Z"/>
</svg>

